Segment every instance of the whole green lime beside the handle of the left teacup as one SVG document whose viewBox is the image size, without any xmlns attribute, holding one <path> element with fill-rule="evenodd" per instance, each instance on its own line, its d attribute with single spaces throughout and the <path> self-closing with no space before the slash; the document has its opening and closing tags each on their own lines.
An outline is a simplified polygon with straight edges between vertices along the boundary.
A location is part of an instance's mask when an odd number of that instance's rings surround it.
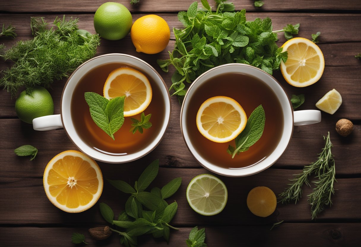
<svg viewBox="0 0 361 247">
<path fill-rule="evenodd" d="M 20 120 L 32 123 L 37 117 L 54 114 L 54 103 L 48 90 L 36 86 L 27 94 L 22 91 L 15 102 L 16 114 Z"/>
</svg>

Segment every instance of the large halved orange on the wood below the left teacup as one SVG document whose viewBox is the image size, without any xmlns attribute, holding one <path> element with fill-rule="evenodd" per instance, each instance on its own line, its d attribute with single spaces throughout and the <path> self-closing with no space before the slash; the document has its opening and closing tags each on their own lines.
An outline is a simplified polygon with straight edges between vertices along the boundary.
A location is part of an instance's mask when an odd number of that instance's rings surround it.
<svg viewBox="0 0 361 247">
<path fill-rule="evenodd" d="M 103 175 L 96 162 L 84 153 L 59 153 L 45 167 L 43 184 L 52 204 L 78 213 L 91 208 L 103 191 Z"/>
</svg>

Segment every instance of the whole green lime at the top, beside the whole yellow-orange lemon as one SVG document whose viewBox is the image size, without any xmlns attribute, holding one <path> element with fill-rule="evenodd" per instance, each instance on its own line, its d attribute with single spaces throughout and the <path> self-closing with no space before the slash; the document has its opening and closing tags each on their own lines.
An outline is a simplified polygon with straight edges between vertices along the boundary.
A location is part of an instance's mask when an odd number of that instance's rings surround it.
<svg viewBox="0 0 361 247">
<path fill-rule="evenodd" d="M 104 39 L 118 40 L 129 34 L 132 15 L 123 5 L 108 2 L 100 5 L 94 15 L 95 31 Z"/>
</svg>

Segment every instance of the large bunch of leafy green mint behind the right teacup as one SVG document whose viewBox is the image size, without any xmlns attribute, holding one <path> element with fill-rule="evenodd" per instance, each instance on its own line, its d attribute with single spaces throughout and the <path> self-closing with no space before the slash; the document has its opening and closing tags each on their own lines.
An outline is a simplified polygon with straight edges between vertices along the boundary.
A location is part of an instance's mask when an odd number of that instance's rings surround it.
<svg viewBox="0 0 361 247">
<path fill-rule="evenodd" d="M 168 72 L 168 66 L 176 69 L 171 81 L 173 95 L 186 94 L 184 82 L 191 83 L 199 75 L 218 65 L 239 62 L 253 65 L 269 74 L 278 70 L 281 61 L 286 62 L 287 52 L 282 52 L 275 41 L 270 18 L 246 21 L 245 9 L 234 12 L 234 5 L 225 0 L 216 0 L 217 10 L 207 0 L 190 5 L 187 12 L 178 13 L 184 29 L 173 28 L 175 47 L 169 59 L 157 60 Z M 226 12 L 231 11 L 231 12 Z"/>
</svg>

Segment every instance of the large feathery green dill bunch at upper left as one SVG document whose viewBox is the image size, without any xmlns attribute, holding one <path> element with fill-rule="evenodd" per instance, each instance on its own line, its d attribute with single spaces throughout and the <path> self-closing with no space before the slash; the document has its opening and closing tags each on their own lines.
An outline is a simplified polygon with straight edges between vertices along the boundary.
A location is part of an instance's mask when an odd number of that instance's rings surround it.
<svg viewBox="0 0 361 247">
<path fill-rule="evenodd" d="M 31 17 L 33 39 L 19 41 L 4 55 L 14 61 L 2 71 L 0 86 L 16 95 L 20 87 L 49 87 L 54 80 L 68 77 L 82 62 L 93 57 L 100 44 L 98 35 L 78 29 L 78 19 L 56 17 L 50 25 L 44 17 Z"/>
</svg>

